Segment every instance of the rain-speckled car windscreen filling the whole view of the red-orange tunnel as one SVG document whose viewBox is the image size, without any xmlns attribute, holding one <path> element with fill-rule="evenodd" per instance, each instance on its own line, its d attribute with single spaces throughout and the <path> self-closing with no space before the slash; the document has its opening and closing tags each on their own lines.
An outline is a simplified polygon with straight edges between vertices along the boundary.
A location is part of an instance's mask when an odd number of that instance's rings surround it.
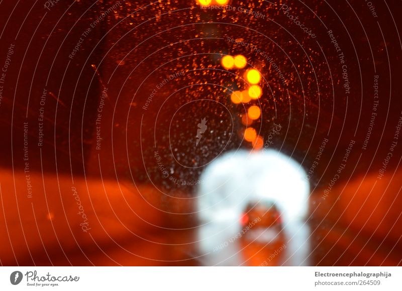
<svg viewBox="0 0 402 291">
<path fill-rule="evenodd" d="M 1 264 L 400 265 L 401 8 L 3 1 Z"/>
</svg>

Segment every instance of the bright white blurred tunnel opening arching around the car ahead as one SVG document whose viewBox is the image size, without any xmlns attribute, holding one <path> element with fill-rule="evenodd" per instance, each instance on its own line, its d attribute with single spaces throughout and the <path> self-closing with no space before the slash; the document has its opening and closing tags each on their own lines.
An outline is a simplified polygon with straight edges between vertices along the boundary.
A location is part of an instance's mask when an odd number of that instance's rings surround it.
<svg viewBox="0 0 402 291">
<path fill-rule="evenodd" d="M 310 193 L 305 170 L 274 150 L 236 151 L 217 158 L 204 171 L 197 199 L 200 250 L 211 252 L 241 230 L 240 217 L 249 202 L 275 203 L 281 213 L 290 250 L 289 264 L 307 264 L 309 228 L 304 223 Z M 232 249 L 226 249 L 227 256 Z M 216 254 L 215 254 L 216 256 Z M 240 258 L 239 260 L 240 261 Z M 216 262 L 226 265 L 229 261 Z M 230 260 L 231 264 L 237 264 Z"/>
</svg>

